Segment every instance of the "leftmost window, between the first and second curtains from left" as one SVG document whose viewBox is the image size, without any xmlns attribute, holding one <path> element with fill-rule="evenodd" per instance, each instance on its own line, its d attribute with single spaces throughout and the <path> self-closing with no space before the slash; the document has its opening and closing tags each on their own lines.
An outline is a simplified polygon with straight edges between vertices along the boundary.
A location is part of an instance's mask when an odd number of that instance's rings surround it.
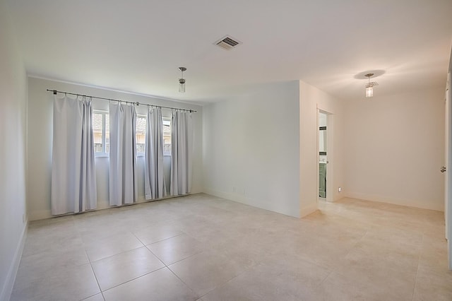
<svg viewBox="0 0 452 301">
<path fill-rule="evenodd" d="M 110 120 L 105 111 L 93 112 L 94 153 L 96 156 L 107 155 L 110 146 Z"/>
</svg>

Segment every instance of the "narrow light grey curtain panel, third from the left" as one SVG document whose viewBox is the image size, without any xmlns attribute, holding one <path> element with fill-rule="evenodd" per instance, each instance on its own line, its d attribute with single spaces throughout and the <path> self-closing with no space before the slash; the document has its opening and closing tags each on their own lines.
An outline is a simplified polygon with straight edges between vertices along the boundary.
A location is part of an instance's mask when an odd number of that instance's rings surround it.
<svg viewBox="0 0 452 301">
<path fill-rule="evenodd" d="M 145 198 L 161 199 L 167 195 L 163 175 L 163 122 L 160 107 L 148 107 L 145 140 Z"/>
</svg>

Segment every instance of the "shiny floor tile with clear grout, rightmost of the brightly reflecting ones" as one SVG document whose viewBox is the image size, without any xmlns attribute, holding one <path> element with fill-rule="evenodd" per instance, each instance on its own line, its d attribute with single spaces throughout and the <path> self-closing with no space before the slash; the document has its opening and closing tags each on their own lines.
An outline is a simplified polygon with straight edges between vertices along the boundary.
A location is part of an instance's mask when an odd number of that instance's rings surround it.
<svg viewBox="0 0 452 301">
<path fill-rule="evenodd" d="M 147 247 L 166 265 L 203 251 L 203 244 L 186 234 L 148 244 Z"/>
</svg>

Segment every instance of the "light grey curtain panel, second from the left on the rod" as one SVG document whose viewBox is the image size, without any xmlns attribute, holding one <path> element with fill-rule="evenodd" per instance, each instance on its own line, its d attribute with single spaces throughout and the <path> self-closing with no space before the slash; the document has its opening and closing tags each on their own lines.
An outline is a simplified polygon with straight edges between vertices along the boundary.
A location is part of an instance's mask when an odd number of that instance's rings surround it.
<svg viewBox="0 0 452 301">
<path fill-rule="evenodd" d="M 136 111 L 133 105 L 109 103 L 109 203 L 121 206 L 137 199 Z"/>
</svg>

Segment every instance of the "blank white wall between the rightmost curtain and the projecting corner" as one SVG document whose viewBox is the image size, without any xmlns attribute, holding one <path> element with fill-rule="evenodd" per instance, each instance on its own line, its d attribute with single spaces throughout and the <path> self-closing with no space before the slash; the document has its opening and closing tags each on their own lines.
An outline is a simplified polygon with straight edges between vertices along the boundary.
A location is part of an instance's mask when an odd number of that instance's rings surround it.
<svg viewBox="0 0 452 301">
<path fill-rule="evenodd" d="M 298 112 L 298 81 L 203 107 L 206 192 L 298 217 Z"/>
</svg>

